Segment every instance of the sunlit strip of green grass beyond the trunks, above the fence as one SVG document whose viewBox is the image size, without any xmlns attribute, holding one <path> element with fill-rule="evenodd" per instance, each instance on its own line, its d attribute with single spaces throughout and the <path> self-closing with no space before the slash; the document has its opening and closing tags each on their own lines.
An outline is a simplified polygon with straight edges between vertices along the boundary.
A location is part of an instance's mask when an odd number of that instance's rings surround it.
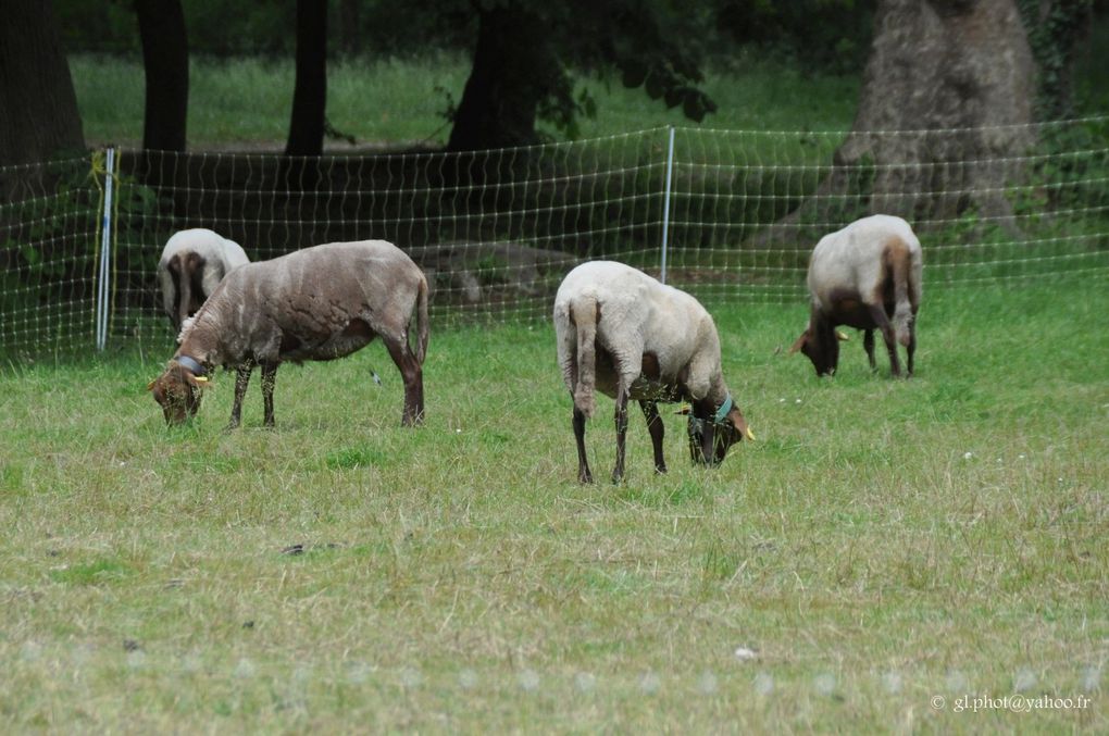
<svg viewBox="0 0 1109 736">
<path fill-rule="evenodd" d="M 142 142 L 144 76 L 139 61 L 98 55 L 70 59 L 85 140 L 93 145 Z M 445 143 L 442 112 L 457 103 L 469 60 L 438 54 L 415 60 L 336 62 L 328 68 L 327 116 L 359 145 Z M 293 100 L 292 61 L 194 60 L 190 71 L 189 146 L 281 149 L 288 135 Z M 668 111 L 641 89 L 619 80 L 586 78 L 598 102 L 596 119 L 582 116 L 580 135 L 596 137 L 658 125 L 691 125 L 680 110 Z M 720 105 L 706 127 L 742 130 L 846 130 L 855 113 L 858 81 L 806 76 L 757 60 L 734 70 L 711 71 L 705 91 Z M 548 133 L 554 134 L 552 131 Z M 329 151 L 349 145 L 328 141 Z"/>
</svg>

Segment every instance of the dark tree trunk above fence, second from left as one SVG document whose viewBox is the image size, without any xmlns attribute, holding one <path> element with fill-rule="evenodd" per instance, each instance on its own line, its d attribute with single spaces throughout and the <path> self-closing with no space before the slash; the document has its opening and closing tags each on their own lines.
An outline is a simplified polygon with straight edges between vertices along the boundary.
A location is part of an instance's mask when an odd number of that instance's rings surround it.
<svg viewBox="0 0 1109 736">
<path fill-rule="evenodd" d="M 189 40 L 181 0 L 135 0 L 146 72 L 142 147 L 185 150 L 189 113 Z"/>
</svg>

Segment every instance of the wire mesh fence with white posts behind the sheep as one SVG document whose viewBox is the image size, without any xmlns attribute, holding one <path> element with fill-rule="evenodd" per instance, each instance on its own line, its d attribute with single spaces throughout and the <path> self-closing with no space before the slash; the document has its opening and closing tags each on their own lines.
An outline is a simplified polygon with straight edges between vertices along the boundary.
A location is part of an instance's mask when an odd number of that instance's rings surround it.
<svg viewBox="0 0 1109 736">
<path fill-rule="evenodd" d="M 876 212 L 917 231 L 926 287 L 1109 274 L 1109 117 L 849 134 L 655 129 L 319 159 L 115 153 L 111 165 L 94 151 L 0 168 L 6 362 L 167 347 L 155 268 L 187 227 L 254 260 L 391 241 L 427 274 L 438 325 L 545 318 L 562 275 L 596 258 L 664 267 L 668 283 L 709 303 L 801 304 L 816 241 Z"/>
</svg>

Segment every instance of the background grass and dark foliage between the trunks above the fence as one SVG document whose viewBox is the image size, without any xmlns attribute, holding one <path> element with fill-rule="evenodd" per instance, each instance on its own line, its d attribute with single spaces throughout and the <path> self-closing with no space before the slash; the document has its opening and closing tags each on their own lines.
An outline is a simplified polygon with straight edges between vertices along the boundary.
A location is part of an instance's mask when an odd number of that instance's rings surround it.
<svg viewBox="0 0 1109 736">
<path fill-rule="evenodd" d="M 651 4 L 648 2 L 647 4 Z M 664 4 L 664 3 L 659 3 Z M 1100 50 L 1109 43 L 1109 3 L 1021 2 L 1041 69 L 1040 113 L 1085 115 L 1109 109 Z M 138 144 L 143 70 L 130 3 L 57 0 L 85 135 L 93 144 Z M 718 106 L 704 125 L 723 129 L 849 127 L 871 40 L 874 0 L 797 3 L 714 0 L 698 10 L 690 40 L 705 61 L 700 86 Z M 295 3 L 252 3 L 227 18 L 223 3 L 184 0 L 192 147 L 283 142 L 293 95 Z M 1044 6 L 1047 7 L 1047 6 Z M 472 64 L 477 17 L 469 2 L 431 6 L 329 3 L 327 115 L 334 132 L 370 144 L 440 145 Z M 1088 20 L 1078 23 L 1076 18 Z M 404 32 L 397 32 L 404 29 Z M 655 124 L 688 123 L 642 89 L 625 89 L 601 65 L 572 70 L 572 100 L 588 100 L 571 129 L 540 122 L 550 137 L 591 137 Z M 1062 79 L 1072 99 L 1058 99 Z M 1069 85 L 1068 88 L 1069 89 Z M 333 147 L 344 142 L 333 136 Z"/>
</svg>

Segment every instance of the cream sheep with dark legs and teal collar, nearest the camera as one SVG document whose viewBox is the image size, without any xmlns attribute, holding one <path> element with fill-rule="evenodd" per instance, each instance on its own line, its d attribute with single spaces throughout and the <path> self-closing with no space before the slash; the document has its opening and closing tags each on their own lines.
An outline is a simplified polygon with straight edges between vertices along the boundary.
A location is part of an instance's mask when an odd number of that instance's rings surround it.
<svg viewBox="0 0 1109 736">
<path fill-rule="evenodd" d="M 663 473 L 663 425 L 659 401 L 690 401 L 690 457 L 714 466 L 728 449 L 754 439 L 735 406 L 720 365 L 720 338 L 712 317 L 689 294 L 641 270 L 611 260 L 571 270 L 554 297 L 558 361 L 573 397 L 578 480 L 592 482 L 586 461 L 586 419 L 593 391 L 615 398 L 617 464 L 624 472 L 628 400 L 637 399 L 654 447 L 654 470 Z"/>
</svg>

